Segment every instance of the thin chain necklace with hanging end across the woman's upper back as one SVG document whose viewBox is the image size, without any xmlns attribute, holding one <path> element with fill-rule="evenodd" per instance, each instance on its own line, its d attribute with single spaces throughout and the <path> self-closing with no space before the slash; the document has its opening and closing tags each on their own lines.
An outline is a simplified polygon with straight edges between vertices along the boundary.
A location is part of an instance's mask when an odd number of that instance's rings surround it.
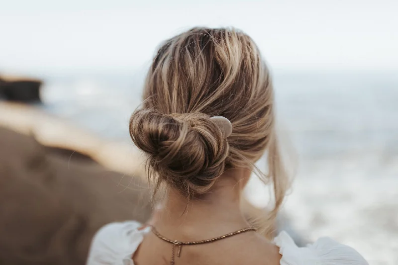
<svg viewBox="0 0 398 265">
<path fill-rule="evenodd" d="M 178 247 L 177 250 L 177 257 L 180 258 L 181 256 L 181 248 L 183 245 L 199 245 L 199 244 L 206 244 L 206 243 L 211 243 L 217 240 L 221 240 L 221 239 L 225 239 L 228 237 L 232 237 L 235 235 L 239 235 L 245 232 L 249 232 L 249 231 L 256 231 L 256 229 L 254 228 L 245 228 L 245 229 L 241 229 L 241 230 L 237 230 L 235 232 L 229 233 L 229 234 L 225 234 L 223 236 L 219 236 L 219 237 L 215 237 L 215 238 L 210 238 L 210 239 L 206 239 L 206 240 L 199 240 L 199 241 L 187 241 L 187 242 L 183 242 L 183 241 L 178 241 L 178 240 L 170 240 L 168 238 L 165 238 L 164 236 L 162 236 L 161 234 L 159 234 L 159 232 L 155 229 L 155 227 L 152 226 L 152 233 L 157 236 L 158 238 L 160 238 L 163 241 L 166 241 L 170 244 L 173 244 L 173 247 L 171 249 L 171 260 L 170 260 L 170 265 L 174 265 L 175 261 L 174 261 L 174 256 L 175 256 L 175 248 Z"/>
</svg>

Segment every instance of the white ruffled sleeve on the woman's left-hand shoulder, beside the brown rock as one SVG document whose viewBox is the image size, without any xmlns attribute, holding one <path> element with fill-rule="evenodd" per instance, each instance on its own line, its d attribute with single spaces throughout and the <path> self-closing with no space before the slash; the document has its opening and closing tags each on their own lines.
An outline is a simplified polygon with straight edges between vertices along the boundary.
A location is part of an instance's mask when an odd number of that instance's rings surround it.
<svg viewBox="0 0 398 265">
<path fill-rule="evenodd" d="M 86 265 L 134 265 L 132 256 L 149 228 L 135 221 L 110 223 L 96 233 Z"/>
</svg>

